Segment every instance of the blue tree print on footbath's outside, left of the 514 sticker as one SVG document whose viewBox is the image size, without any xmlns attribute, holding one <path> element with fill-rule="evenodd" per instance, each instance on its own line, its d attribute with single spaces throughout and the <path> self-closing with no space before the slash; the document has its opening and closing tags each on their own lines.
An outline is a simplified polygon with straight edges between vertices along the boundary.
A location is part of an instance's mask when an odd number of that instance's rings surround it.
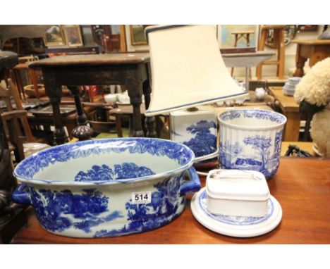
<svg viewBox="0 0 330 269">
<path fill-rule="evenodd" d="M 102 214 L 108 212 L 109 199 L 96 189 L 84 189 L 82 194 L 73 194 L 69 190 L 36 191 L 31 187 L 30 192 L 39 223 L 52 232 L 63 232 L 71 227 L 91 232 L 90 228 L 100 223 L 123 218 L 119 211 Z M 102 217 L 99 216 L 101 214 Z"/>
</svg>

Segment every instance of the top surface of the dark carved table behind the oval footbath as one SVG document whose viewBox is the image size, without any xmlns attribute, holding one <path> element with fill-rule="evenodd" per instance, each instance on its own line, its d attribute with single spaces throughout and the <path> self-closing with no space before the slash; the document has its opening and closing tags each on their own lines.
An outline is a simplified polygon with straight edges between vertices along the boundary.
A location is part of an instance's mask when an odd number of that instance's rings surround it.
<svg viewBox="0 0 330 269">
<path fill-rule="evenodd" d="M 29 64 L 29 68 L 81 65 L 122 65 L 147 63 L 149 61 L 150 57 L 148 53 L 65 55 L 44 58 L 42 60 L 32 62 Z"/>
</svg>

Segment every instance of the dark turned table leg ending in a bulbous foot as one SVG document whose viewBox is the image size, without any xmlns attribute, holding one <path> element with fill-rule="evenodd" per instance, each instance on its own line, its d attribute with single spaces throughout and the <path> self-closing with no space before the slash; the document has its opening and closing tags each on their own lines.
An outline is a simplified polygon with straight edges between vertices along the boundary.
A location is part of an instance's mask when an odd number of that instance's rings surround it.
<svg viewBox="0 0 330 269">
<path fill-rule="evenodd" d="M 70 89 L 71 94 L 73 94 L 73 97 L 75 99 L 75 108 L 77 109 L 77 123 L 78 123 L 78 126 L 75 127 L 75 129 L 73 129 L 71 134 L 73 137 L 78 138 L 80 141 L 91 139 L 94 131 L 92 130 L 92 127 L 87 125 L 88 120 L 87 120 L 87 116 L 85 115 L 82 109 L 82 104 L 79 96 L 79 87 L 68 86 L 68 89 Z"/>
</svg>

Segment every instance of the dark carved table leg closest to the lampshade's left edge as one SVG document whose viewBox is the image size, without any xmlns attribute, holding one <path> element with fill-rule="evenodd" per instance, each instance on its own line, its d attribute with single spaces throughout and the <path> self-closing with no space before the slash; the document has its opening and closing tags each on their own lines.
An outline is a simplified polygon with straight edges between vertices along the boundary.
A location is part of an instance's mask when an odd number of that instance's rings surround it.
<svg viewBox="0 0 330 269">
<path fill-rule="evenodd" d="M 139 80 L 139 70 L 129 72 L 126 75 L 125 86 L 130 96 L 130 104 L 133 106 L 133 137 L 145 137 L 142 130 L 142 117 L 140 106 L 142 104 L 142 81 Z"/>
</svg>

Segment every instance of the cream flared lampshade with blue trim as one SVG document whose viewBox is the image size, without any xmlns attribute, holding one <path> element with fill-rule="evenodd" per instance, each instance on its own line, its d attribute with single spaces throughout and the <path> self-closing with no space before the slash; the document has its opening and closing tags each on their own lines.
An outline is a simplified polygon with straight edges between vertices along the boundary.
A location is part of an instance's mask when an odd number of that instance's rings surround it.
<svg viewBox="0 0 330 269">
<path fill-rule="evenodd" d="M 215 25 L 145 29 L 152 70 L 152 99 L 145 115 L 247 96 L 229 75 Z"/>
</svg>

